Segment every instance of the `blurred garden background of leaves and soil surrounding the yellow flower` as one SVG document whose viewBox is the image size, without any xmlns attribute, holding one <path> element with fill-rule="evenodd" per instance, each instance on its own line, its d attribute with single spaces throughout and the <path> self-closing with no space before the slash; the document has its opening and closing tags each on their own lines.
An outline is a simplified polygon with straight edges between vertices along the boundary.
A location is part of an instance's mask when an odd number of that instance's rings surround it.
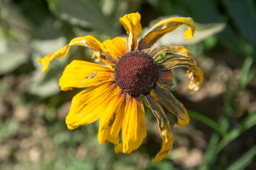
<svg viewBox="0 0 256 170">
<path fill-rule="evenodd" d="M 164 17 L 193 18 L 195 38 L 180 27 L 157 46 L 186 46 L 205 74 L 191 95 L 186 70 L 174 70 L 172 92 L 191 124 L 173 128 L 166 111 L 173 150 L 157 164 L 161 138 L 147 108 L 147 138 L 131 155 L 100 145 L 98 122 L 67 129 L 79 89 L 61 92 L 58 78 L 71 60 L 94 62 L 90 50 L 72 46 L 44 74 L 36 61 L 77 36 L 125 36 L 118 19 L 136 11 L 144 31 Z M 0 169 L 256 169 L 255 29 L 253 0 L 0 0 Z"/>
</svg>

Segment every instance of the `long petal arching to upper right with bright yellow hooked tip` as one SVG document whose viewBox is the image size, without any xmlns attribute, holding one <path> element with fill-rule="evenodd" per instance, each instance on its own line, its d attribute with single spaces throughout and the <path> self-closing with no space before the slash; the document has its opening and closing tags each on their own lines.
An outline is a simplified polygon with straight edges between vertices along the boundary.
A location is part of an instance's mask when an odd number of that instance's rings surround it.
<svg viewBox="0 0 256 170">
<path fill-rule="evenodd" d="M 184 38 L 193 38 L 195 32 L 195 24 L 191 18 L 177 17 L 177 18 L 168 18 L 161 20 L 156 25 L 154 25 L 148 32 L 145 34 L 138 43 L 138 50 L 143 52 L 148 52 L 155 45 L 155 43 L 167 34 L 177 29 L 182 24 L 189 26 L 188 30 L 183 35 Z"/>
</svg>

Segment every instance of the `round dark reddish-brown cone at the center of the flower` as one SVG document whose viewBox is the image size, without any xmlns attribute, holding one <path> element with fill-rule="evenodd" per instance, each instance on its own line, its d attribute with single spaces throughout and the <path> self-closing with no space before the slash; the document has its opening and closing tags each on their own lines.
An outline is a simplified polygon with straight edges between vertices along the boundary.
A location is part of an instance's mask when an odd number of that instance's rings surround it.
<svg viewBox="0 0 256 170">
<path fill-rule="evenodd" d="M 143 52 L 125 53 L 115 67 L 117 85 L 131 96 L 148 94 L 155 87 L 158 76 L 156 62 Z"/>
</svg>

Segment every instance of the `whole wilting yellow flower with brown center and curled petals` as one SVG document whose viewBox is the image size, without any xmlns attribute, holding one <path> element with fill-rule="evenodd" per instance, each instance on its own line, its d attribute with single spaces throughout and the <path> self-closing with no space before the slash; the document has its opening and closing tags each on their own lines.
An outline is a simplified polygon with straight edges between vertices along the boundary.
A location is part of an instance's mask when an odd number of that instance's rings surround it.
<svg viewBox="0 0 256 170">
<path fill-rule="evenodd" d="M 81 45 L 91 48 L 93 55 L 115 67 L 82 60 L 73 60 L 68 64 L 60 78 L 61 90 L 74 87 L 86 89 L 73 97 L 66 117 L 67 127 L 76 129 L 99 119 L 99 143 L 104 145 L 109 141 L 115 145 L 116 153 L 131 153 L 140 147 L 147 134 L 144 99 L 159 124 L 163 144 L 153 160 L 159 162 L 172 150 L 173 145 L 168 118 L 161 105 L 177 116 L 176 127 L 189 124 L 186 109 L 170 92 L 173 85 L 172 68 L 188 68 L 186 76 L 191 79 L 188 85 L 191 92 L 200 88 L 204 78 L 202 70 L 183 46 L 151 50 L 164 34 L 182 24 L 188 25 L 184 37 L 192 38 L 195 25 L 191 18 L 162 20 L 137 41 L 138 34 L 142 32 L 140 19 L 140 13 L 130 13 L 120 18 L 129 35 L 128 41 L 127 38 L 116 37 L 100 43 L 93 36 L 78 37 L 38 61 L 44 64 L 44 72 L 52 59 L 65 57 L 72 45 Z M 157 62 L 157 57 L 163 53 L 168 55 Z M 120 131 L 122 139 L 119 139 Z"/>
</svg>

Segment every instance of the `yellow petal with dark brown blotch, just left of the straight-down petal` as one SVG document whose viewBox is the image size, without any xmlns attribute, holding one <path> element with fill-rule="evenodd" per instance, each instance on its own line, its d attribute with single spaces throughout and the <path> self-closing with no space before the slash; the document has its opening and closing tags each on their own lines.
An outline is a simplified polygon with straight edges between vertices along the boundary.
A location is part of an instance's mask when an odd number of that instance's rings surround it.
<svg viewBox="0 0 256 170">
<path fill-rule="evenodd" d="M 118 92 L 106 101 L 105 110 L 100 115 L 99 143 L 104 145 L 107 141 L 118 145 L 118 134 L 122 127 L 125 113 L 126 93 Z"/>
</svg>

